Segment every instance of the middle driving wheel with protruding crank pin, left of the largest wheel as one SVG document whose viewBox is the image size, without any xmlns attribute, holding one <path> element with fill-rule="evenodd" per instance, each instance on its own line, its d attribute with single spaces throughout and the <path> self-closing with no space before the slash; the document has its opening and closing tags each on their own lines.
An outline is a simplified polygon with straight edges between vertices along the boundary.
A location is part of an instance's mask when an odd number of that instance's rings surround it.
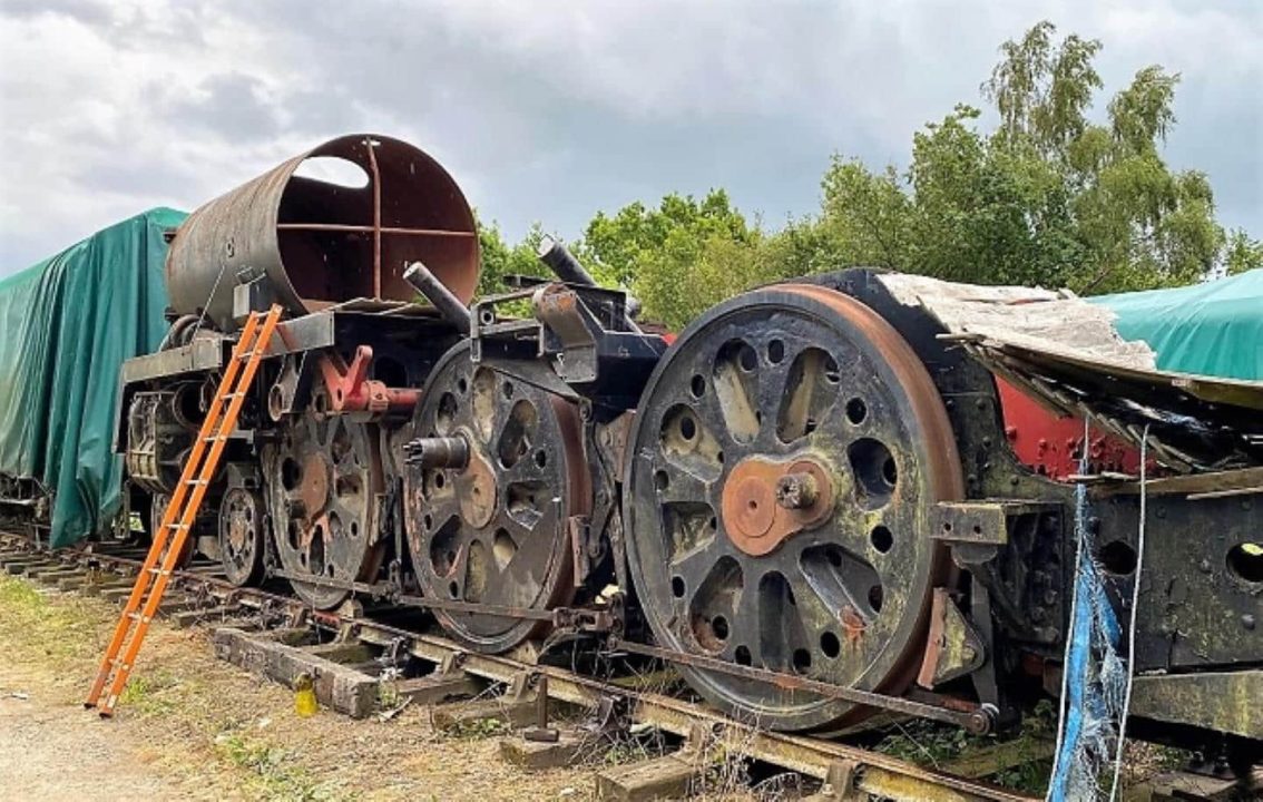
<svg viewBox="0 0 1263 802">
<path fill-rule="evenodd" d="M 458 345 L 436 366 L 413 417 L 416 437 L 464 437 L 465 469 L 408 466 L 405 530 L 422 594 L 547 610 L 573 600 L 568 520 L 590 506 L 573 404 L 470 361 Z M 481 652 L 538 634 L 537 620 L 452 613 L 436 618 Z"/>
</svg>

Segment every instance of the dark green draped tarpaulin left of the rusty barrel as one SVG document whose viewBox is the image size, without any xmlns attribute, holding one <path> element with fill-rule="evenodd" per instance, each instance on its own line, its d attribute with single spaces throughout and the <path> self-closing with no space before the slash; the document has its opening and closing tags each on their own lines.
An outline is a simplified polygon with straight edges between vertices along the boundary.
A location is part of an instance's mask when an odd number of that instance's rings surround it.
<svg viewBox="0 0 1263 802">
<path fill-rule="evenodd" d="M 163 231 L 183 218 L 150 210 L 0 280 L 0 472 L 53 490 L 53 546 L 121 505 L 119 370 L 167 332 Z"/>
</svg>

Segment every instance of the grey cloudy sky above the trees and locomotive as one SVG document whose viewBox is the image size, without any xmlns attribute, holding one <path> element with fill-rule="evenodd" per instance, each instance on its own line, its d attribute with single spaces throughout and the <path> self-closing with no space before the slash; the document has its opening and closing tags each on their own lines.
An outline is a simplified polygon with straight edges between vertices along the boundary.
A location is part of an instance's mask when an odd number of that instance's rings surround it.
<svg viewBox="0 0 1263 802">
<path fill-rule="evenodd" d="M 1181 72 L 1166 155 L 1263 236 L 1255 0 L 4 0 L 0 275 L 352 131 L 429 150 L 510 237 L 716 186 L 777 225 L 831 153 L 906 163 L 1045 18 L 1105 43 L 1108 91 Z"/>
</svg>

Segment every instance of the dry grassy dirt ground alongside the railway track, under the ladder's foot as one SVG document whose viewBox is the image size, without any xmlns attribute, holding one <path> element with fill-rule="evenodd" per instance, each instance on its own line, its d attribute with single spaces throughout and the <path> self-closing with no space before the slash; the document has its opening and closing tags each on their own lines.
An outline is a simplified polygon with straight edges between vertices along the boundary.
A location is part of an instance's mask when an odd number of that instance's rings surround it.
<svg viewBox="0 0 1263 802">
<path fill-rule="evenodd" d="M 213 658 L 205 629 L 157 626 L 117 716 L 80 702 L 114 607 L 0 577 L 0 797 L 44 799 L 587 799 L 594 767 L 524 774 L 495 738 L 322 711 Z"/>
</svg>

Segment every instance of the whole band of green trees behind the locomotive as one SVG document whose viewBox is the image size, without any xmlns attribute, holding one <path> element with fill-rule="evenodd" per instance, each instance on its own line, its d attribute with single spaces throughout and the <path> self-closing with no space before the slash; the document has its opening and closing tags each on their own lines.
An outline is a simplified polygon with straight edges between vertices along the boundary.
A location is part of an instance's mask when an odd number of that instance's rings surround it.
<svg viewBox="0 0 1263 802">
<path fill-rule="evenodd" d="M 1000 45 L 981 85 L 999 125 L 980 129 L 969 105 L 912 138 L 907 169 L 873 169 L 835 154 L 817 215 L 779 231 L 749 222 L 727 193 L 668 195 L 657 207 L 599 212 L 572 250 L 602 283 L 681 328 L 751 287 L 871 265 L 980 284 L 1043 284 L 1079 293 L 1187 284 L 1263 266 L 1263 244 L 1225 234 L 1210 182 L 1172 171 L 1161 147 L 1176 124 L 1180 76 L 1152 64 L 1105 104 L 1095 39 L 1058 40 L 1042 21 Z M 509 273 L 539 273 L 536 226 L 504 244 L 482 230 L 489 292 Z"/>
</svg>

